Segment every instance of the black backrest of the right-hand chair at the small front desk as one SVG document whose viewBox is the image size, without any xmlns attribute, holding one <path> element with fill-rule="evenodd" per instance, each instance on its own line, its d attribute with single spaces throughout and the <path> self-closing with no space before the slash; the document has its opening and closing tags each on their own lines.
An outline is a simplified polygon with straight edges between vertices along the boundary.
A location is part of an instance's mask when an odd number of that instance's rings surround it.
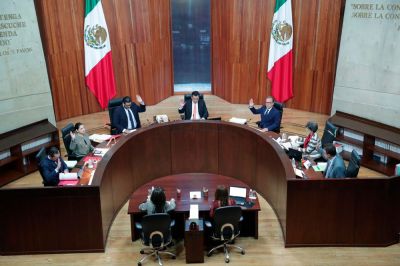
<svg viewBox="0 0 400 266">
<path fill-rule="evenodd" d="M 215 210 L 214 237 L 221 240 L 233 239 L 239 230 L 239 221 L 242 216 L 242 208 L 239 206 L 225 206 Z"/>
</svg>

